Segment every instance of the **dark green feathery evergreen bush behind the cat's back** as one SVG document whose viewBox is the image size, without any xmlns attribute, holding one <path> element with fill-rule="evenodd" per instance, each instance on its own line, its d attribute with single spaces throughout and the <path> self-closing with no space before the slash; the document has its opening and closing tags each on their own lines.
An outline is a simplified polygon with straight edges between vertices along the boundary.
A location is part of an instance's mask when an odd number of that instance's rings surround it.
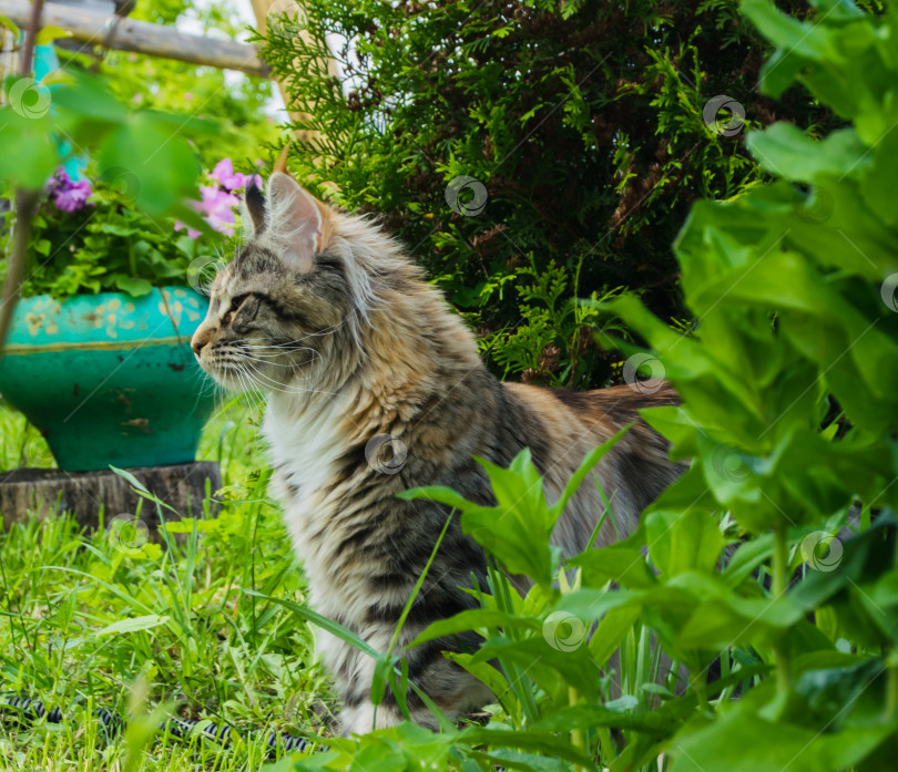
<svg viewBox="0 0 898 772">
<path fill-rule="evenodd" d="M 757 93 L 767 49 L 735 0 L 305 8 L 305 35 L 283 20 L 265 44 L 308 116 L 295 127 L 317 133 L 294 145 L 293 168 L 347 209 L 382 214 L 497 370 L 525 381 L 606 382 L 613 359 L 590 330 L 613 322 L 578 315 L 574 298 L 637 288 L 681 313 L 670 245 L 690 204 L 763 176 L 741 121 L 711 109 L 706 123 L 712 97 L 741 103 L 747 125 L 828 116 L 798 91 L 776 104 Z M 339 78 L 327 40 L 345 42 Z"/>
</svg>

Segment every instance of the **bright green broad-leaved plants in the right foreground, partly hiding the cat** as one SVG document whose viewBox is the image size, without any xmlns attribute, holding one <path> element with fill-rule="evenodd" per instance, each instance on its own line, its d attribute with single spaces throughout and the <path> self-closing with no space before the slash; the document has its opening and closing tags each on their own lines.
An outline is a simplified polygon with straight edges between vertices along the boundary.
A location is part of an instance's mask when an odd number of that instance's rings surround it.
<svg viewBox="0 0 898 772">
<path fill-rule="evenodd" d="M 675 244 L 691 333 L 632 297 L 608 308 L 682 394 L 645 418 L 688 471 L 635 534 L 567 563 L 548 543 L 561 505 L 527 452 L 487 465 L 496 507 L 408 494 L 461 511 L 494 560 L 482 608 L 421 640 L 480 631 L 455 659 L 499 707 L 487 727 L 384 730 L 277 769 L 895 769 L 898 7 L 822 1 L 805 22 L 743 9 L 776 47 L 765 92 L 798 80 L 847 125 L 752 132 L 776 181 L 693 207 Z M 531 577 L 525 598 L 506 572 Z"/>
</svg>

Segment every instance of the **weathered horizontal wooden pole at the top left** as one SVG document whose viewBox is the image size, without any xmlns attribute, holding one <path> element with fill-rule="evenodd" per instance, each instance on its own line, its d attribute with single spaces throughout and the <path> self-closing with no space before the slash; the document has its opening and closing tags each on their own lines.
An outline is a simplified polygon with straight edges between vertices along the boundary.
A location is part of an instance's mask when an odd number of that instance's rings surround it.
<svg viewBox="0 0 898 772">
<path fill-rule="evenodd" d="M 31 3 L 28 0 L 0 0 L 0 17 L 22 27 L 28 23 Z M 60 27 L 74 40 L 88 43 L 105 42 L 112 17 L 73 6 L 48 2 L 43 8 L 43 27 Z M 254 45 L 233 40 L 217 40 L 201 34 L 178 32 L 162 24 L 121 19 L 110 48 L 151 56 L 175 59 L 191 64 L 206 64 L 223 70 L 239 70 L 248 75 L 267 78 L 271 70 Z"/>
</svg>

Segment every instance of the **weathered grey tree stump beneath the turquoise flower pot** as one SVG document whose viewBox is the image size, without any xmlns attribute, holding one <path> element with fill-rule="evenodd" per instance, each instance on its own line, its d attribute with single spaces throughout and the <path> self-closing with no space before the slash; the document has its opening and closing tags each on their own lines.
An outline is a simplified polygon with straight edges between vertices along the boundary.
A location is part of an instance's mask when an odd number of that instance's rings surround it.
<svg viewBox="0 0 898 772">
<path fill-rule="evenodd" d="M 222 473 L 214 461 L 196 461 L 169 466 L 142 466 L 127 470 L 141 484 L 182 516 L 202 517 L 206 481 L 215 493 L 222 486 Z M 54 512 L 71 512 L 81 526 L 96 528 L 100 511 L 109 524 L 119 515 L 134 518 L 141 504 L 140 519 L 155 537 L 160 518 L 156 504 L 135 493 L 131 483 L 111 470 L 65 472 L 63 470 L 21 469 L 0 472 L 0 514 L 4 527 L 25 521 L 29 513 L 45 517 Z M 163 507 L 166 521 L 177 519 Z"/>
</svg>

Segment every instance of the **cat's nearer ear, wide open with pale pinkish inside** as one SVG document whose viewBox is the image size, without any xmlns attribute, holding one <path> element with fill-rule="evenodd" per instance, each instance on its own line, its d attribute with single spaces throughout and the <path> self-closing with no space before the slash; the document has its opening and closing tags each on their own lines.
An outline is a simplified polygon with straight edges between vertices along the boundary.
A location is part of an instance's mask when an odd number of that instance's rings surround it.
<svg viewBox="0 0 898 772">
<path fill-rule="evenodd" d="M 277 241 L 280 257 L 293 268 L 310 271 L 315 255 L 326 246 L 327 207 L 288 174 L 268 177 L 265 235 Z"/>
</svg>

